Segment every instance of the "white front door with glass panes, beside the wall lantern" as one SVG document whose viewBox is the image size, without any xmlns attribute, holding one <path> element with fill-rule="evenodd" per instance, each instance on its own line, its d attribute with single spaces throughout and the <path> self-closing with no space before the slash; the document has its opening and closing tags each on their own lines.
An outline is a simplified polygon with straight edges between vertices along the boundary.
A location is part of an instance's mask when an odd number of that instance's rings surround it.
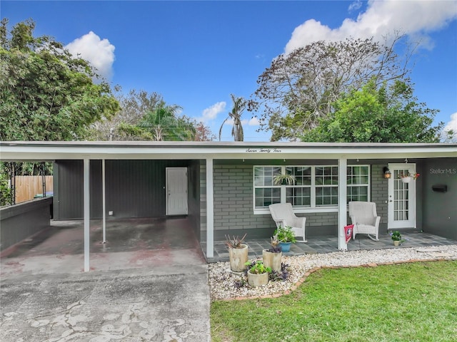
<svg viewBox="0 0 457 342">
<path fill-rule="evenodd" d="M 403 182 L 401 175 L 416 172 L 416 164 L 389 164 L 388 229 L 416 228 L 416 180 Z"/>
</svg>

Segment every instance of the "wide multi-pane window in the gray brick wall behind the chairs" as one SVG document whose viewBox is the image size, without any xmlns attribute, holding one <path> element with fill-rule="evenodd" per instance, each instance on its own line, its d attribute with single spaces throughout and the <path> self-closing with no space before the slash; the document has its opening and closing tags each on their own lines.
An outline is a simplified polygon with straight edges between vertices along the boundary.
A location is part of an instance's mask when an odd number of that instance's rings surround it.
<svg viewBox="0 0 457 342">
<path fill-rule="evenodd" d="M 293 185 L 275 184 L 275 175 L 295 177 Z M 370 166 L 347 167 L 347 200 L 368 201 Z M 338 205 L 338 166 L 255 166 L 254 209 L 273 203 L 291 203 L 298 208 L 335 208 Z"/>
</svg>

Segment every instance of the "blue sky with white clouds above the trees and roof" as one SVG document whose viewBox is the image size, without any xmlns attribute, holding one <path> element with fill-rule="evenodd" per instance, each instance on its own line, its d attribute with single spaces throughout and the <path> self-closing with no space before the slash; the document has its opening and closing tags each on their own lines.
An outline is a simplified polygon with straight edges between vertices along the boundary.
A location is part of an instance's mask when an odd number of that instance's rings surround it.
<svg viewBox="0 0 457 342">
<path fill-rule="evenodd" d="M 230 94 L 248 98 L 273 58 L 317 40 L 381 38 L 394 30 L 423 44 L 415 95 L 457 131 L 457 1 L 0 1 L 10 26 L 34 19 L 91 61 L 109 82 L 163 95 L 217 135 Z M 245 141 L 268 141 L 243 114 Z M 222 140 L 232 141 L 231 125 Z"/>
</svg>

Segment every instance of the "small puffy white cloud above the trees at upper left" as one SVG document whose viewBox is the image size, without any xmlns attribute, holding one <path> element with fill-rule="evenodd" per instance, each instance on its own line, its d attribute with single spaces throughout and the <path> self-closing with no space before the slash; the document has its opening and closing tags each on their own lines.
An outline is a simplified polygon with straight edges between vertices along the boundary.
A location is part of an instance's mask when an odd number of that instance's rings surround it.
<svg viewBox="0 0 457 342">
<path fill-rule="evenodd" d="M 97 73 L 104 78 L 111 78 L 114 63 L 114 45 L 108 39 L 100 39 L 94 32 L 90 31 L 81 38 L 65 46 L 73 56 L 80 55 L 89 61 Z"/>
</svg>

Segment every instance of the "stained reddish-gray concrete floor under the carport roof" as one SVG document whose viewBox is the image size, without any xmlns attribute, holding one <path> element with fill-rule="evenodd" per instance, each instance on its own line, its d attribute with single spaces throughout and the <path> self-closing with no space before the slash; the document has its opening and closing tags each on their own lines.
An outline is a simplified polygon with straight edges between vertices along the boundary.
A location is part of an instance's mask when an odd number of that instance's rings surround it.
<svg viewBox="0 0 457 342">
<path fill-rule="evenodd" d="M 112 271 L 206 264 L 188 219 L 91 220 L 90 269 Z M 1 276 L 84 271 L 84 222 L 56 221 L 1 254 Z"/>
</svg>

